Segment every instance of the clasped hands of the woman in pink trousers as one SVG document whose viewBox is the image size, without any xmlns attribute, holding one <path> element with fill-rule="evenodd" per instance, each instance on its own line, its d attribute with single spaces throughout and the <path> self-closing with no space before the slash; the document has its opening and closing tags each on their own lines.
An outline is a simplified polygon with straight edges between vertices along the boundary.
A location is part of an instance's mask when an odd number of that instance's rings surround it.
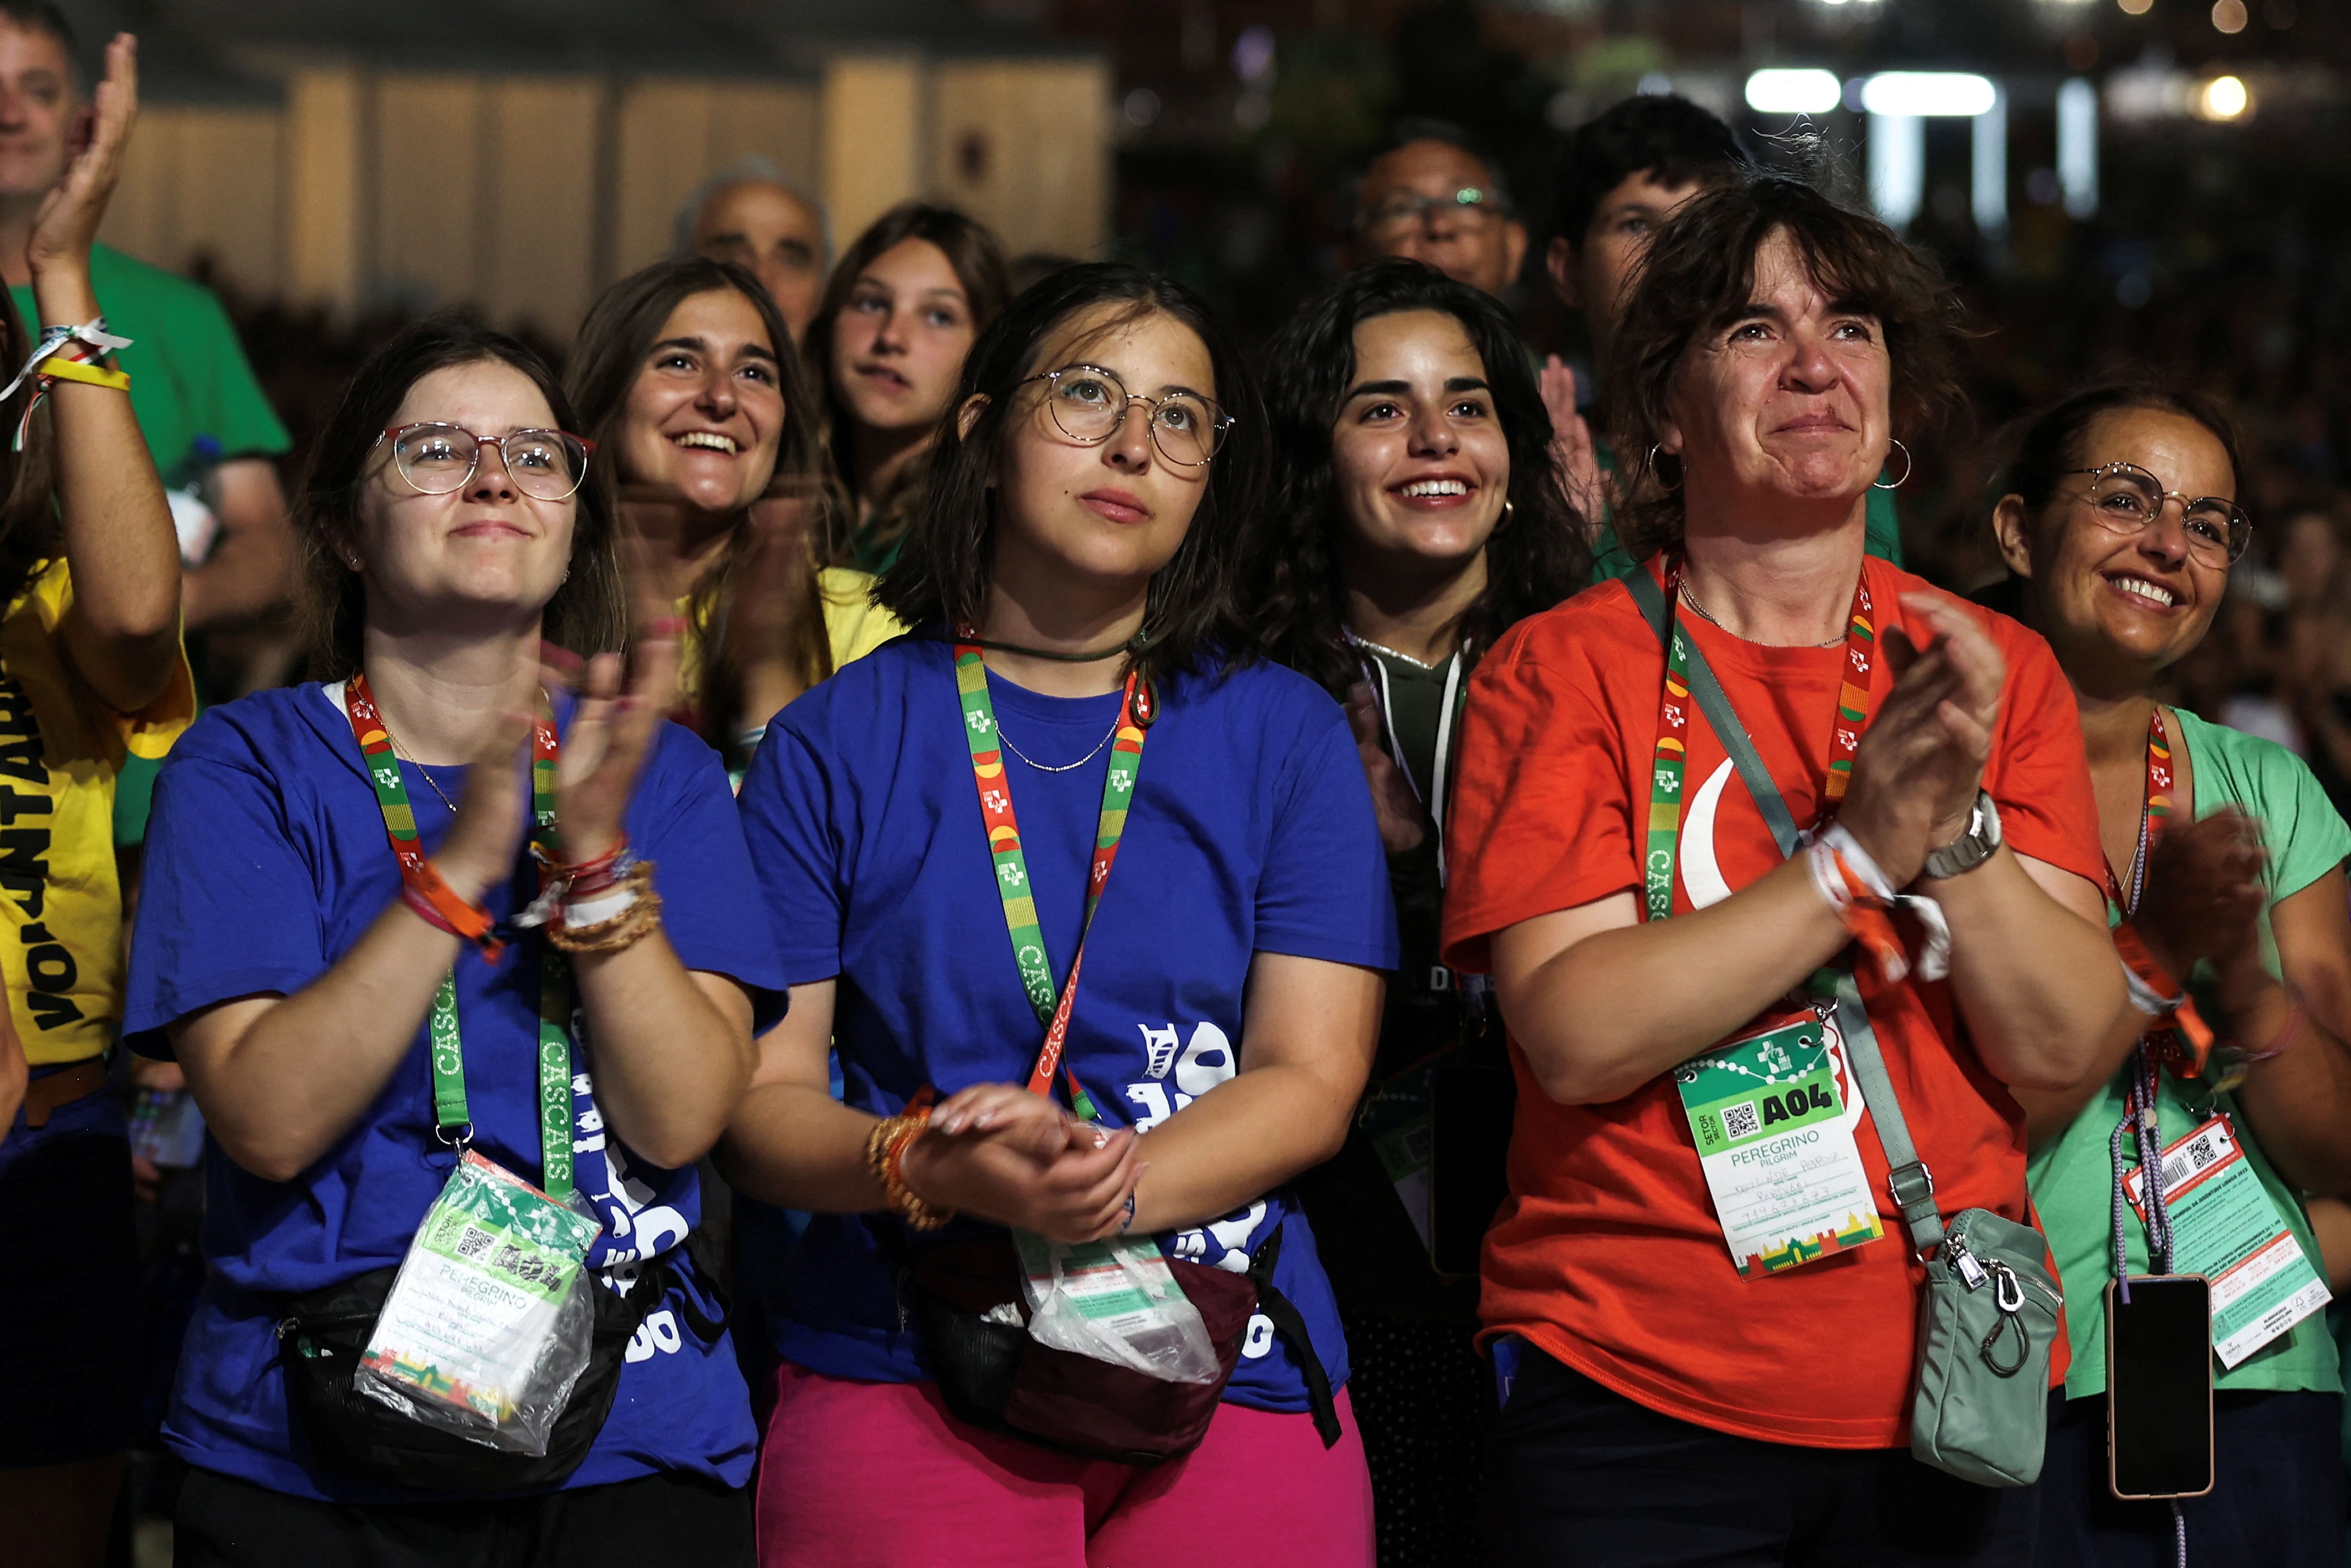
<svg viewBox="0 0 2351 1568">
<path fill-rule="evenodd" d="M 940 1208 L 1016 1225 L 1049 1241 L 1100 1241 L 1119 1232 L 1150 1166 L 1133 1128 L 1079 1121 L 1016 1084 L 973 1084 L 931 1112 L 905 1150 L 900 1175 Z"/>
</svg>

